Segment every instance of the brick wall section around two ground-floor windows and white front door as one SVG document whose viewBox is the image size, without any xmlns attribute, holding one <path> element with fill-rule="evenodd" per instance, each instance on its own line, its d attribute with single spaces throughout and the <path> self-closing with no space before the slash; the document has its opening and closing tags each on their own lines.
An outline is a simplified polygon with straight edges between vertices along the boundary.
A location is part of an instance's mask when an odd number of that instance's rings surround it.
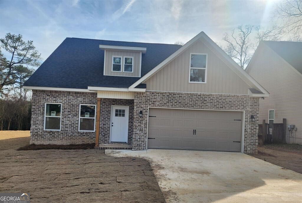
<svg viewBox="0 0 302 203">
<path fill-rule="evenodd" d="M 62 104 L 60 131 L 44 130 L 45 103 Z M 80 144 L 95 142 L 95 132 L 79 132 L 80 104 L 97 105 L 97 93 L 33 90 L 30 143 Z M 111 105 L 129 106 L 128 143 L 131 143 L 133 133 L 133 100 L 106 98 L 101 100 L 100 143 L 109 143 Z"/>
</svg>

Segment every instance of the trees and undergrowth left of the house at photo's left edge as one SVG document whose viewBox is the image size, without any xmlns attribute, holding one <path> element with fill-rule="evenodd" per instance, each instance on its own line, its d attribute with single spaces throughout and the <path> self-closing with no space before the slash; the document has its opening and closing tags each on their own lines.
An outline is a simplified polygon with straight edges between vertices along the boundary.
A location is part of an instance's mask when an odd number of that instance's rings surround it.
<svg viewBox="0 0 302 203">
<path fill-rule="evenodd" d="M 31 96 L 24 82 L 40 66 L 41 55 L 33 41 L 22 35 L 6 34 L 0 39 L 0 130 L 30 130 Z"/>
</svg>

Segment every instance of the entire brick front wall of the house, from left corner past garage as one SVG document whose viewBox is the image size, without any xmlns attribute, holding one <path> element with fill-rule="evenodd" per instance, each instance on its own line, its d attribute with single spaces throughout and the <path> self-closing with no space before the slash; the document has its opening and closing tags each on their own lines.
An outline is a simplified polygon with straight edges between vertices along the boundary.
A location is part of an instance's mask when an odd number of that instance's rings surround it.
<svg viewBox="0 0 302 203">
<path fill-rule="evenodd" d="M 61 130 L 44 130 L 45 103 L 62 103 Z M 94 92 L 65 92 L 33 90 L 31 143 L 71 144 L 95 142 L 95 132 L 79 132 L 79 105 L 97 105 Z M 179 92 L 136 92 L 131 99 L 101 99 L 99 143 L 108 144 L 110 138 L 111 106 L 129 106 L 128 143 L 133 150 L 147 147 L 148 107 L 194 108 L 245 111 L 244 152 L 257 153 L 259 98 L 249 95 L 179 93 Z M 143 118 L 139 111 L 143 111 Z M 97 111 L 99 111 L 97 109 Z M 255 122 L 250 116 L 255 115 Z"/>
</svg>

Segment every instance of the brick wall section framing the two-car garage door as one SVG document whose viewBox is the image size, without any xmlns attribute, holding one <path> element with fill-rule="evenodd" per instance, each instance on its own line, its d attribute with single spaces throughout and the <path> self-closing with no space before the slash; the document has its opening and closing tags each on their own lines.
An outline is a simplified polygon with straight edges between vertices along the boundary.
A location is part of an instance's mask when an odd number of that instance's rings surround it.
<svg viewBox="0 0 302 203">
<path fill-rule="evenodd" d="M 257 153 L 259 98 L 249 95 L 137 92 L 134 96 L 132 150 L 144 150 L 147 143 L 148 107 L 194 108 L 245 111 L 244 152 Z M 143 111 L 143 118 L 135 112 Z M 250 116 L 255 115 L 255 122 Z"/>
</svg>

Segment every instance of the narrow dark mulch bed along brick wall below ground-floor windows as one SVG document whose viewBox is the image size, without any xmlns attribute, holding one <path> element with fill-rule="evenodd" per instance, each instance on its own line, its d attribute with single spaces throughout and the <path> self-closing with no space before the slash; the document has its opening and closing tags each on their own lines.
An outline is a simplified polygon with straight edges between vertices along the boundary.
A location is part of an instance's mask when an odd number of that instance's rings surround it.
<svg viewBox="0 0 302 203">
<path fill-rule="evenodd" d="M 30 144 L 19 147 L 17 151 L 20 150 L 40 150 L 40 149 L 93 149 L 95 143 L 87 143 L 87 144 L 70 144 L 70 145 L 36 145 Z"/>
</svg>

